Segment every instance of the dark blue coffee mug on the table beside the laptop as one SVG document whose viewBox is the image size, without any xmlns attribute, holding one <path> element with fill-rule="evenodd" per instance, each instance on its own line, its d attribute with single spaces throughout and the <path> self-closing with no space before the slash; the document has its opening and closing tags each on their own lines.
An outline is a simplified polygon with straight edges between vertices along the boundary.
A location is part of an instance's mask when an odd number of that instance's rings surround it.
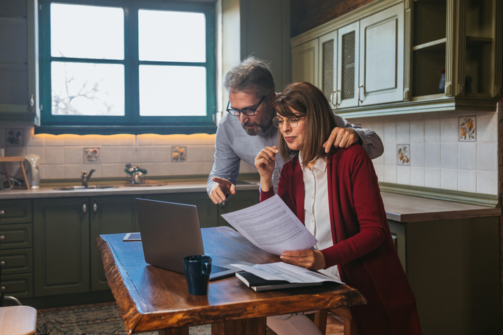
<svg viewBox="0 0 503 335">
<path fill-rule="evenodd" d="M 185 272 L 190 294 L 208 294 L 208 282 L 211 273 L 210 256 L 194 255 L 185 257 L 183 259 L 183 271 Z"/>
</svg>

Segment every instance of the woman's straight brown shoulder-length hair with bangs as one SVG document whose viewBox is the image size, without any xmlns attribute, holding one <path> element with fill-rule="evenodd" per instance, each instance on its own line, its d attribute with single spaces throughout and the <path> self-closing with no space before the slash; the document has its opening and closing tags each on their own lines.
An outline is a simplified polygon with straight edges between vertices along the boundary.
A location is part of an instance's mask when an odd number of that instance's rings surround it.
<svg viewBox="0 0 503 335">
<path fill-rule="evenodd" d="M 332 129 L 336 127 L 336 120 L 322 91 L 306 81 L 292 83 L 277 95 L 273 106 L 276 113 L 282 117 L 297 116 L 290 107 L 300 115 L 306 115 L 302 165 L 307 166 L 316 158 L 327 156 L 323 143 L 328 140 Z M 278 131 L 278 147 L 283 161 L 289 161 L 299 153 L 297 150 L 290 150 L 281 131 Z"/>
</svg>

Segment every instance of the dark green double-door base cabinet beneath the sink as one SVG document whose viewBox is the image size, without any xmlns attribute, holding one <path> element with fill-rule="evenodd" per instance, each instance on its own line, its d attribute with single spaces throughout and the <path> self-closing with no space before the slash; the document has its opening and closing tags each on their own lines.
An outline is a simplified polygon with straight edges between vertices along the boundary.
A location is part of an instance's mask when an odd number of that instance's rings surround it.
<svg viewBox="0 0 503 335">
<path fill-rule="evenodd" d="M 107 290 L 94 240 L 138 231 L 134 198 L 34 199 L 35 295 Z"/>
</svg>

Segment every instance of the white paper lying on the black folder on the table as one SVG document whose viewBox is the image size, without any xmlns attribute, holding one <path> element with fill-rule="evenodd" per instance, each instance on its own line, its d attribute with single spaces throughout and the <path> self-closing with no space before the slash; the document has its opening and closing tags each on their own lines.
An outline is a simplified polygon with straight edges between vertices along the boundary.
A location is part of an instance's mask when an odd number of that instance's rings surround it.
<svg viewBox="0 0 503 335">
<path fill-rule="evenodd" d="M 327 277 L 321 273 L 283 262 L 256 264 L 253 266 L 242 264 L 231 265 L 267 280 L 286 280 L 290 283 L 320 283 L 322 281 L 333 281 L 334 283 L 344 284 L 342 281 Z"/>
</svg>

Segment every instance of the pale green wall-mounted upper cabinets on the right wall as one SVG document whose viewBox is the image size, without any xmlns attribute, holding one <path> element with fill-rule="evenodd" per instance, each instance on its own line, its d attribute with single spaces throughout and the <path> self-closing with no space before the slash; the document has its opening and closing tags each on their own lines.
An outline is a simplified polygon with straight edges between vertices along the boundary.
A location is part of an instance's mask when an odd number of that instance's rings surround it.
<svg viewBox="0 0 503 335">
<path fill-rule="evenodd" d="M 495 111 L 503 0 L 382 0 L 290 39 L 292 81 L 345 118 Z"/>
</svg>

